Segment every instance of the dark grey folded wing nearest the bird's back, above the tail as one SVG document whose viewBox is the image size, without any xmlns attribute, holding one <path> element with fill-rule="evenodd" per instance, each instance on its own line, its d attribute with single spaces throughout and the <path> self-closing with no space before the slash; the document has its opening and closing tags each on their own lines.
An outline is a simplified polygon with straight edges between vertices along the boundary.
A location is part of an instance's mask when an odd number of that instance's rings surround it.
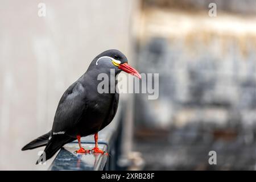
<svg viewBox="0 0 256 182">
<path fill-rule="evenodd" d="M 73 83 L 60 99 L 53 121 L 53 134 L 64 134 L 80 121 L 86 110 L 86 89 L 79 81 Z"/>
</svg>

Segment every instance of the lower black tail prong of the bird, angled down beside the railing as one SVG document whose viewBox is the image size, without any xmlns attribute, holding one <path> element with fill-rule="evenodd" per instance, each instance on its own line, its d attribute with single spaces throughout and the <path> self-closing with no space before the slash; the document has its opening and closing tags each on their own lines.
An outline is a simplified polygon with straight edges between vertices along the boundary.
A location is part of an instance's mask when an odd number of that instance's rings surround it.
<svg viewBox="0 0 256 182">
<path fill-rule="evenodd" d="M 74 139 L 67 135 L 53 135 L 51 140 L 47 143 L 44 153 L 40 156 L 36 164 L 38 164 L 42 159 L 50 159 L 62 146 L 64 146 L 64 144 L 72 142 L 72 140 Z M 45 156 L 43 157 L 43 155 Z"/>
</svg>

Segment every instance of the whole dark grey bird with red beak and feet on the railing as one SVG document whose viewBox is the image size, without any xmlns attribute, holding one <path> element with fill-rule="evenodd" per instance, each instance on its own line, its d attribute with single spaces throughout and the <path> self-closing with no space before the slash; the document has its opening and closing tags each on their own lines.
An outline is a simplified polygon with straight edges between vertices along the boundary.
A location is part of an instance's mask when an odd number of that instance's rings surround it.
<svg viewBox="0 0 256 182">
<path fill-rule="evenodd" d="M 102 80 L 97 77 L 100 73 L 106 73 L 109 78 L 115 77 L 121 71 L 141 78 L 141 75 L 127 64 L 126 56 L 116 49 L 102 52 L 95 57 L 84 75 L 69 86 L 61 97 L 52 130 L 28 143 L 22 150 L 46 146 L 44 152 L 48 160 L 64 144 L 77 139 L 80 149 L 76 152 L 87 153 L 90 151 L 82 148 L 80 138 L 94 134 L 95 147 L 92 151 L 104 154 L 104 151 L 98 148 L 98 131 L 109 125 L 114 118 L 119 94 L 110 92 L 110 87 L 115 87 L 117 80 L 114 85 L 109 84 L 109 93 L 98 92 L 98 84 Z"/>
</svg>

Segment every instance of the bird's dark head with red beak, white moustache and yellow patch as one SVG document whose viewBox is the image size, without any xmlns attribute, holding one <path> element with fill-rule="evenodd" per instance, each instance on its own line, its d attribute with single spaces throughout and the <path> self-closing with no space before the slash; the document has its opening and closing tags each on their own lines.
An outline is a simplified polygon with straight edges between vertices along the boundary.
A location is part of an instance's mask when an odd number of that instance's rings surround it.
<svg viewBox="0 0 256 182">
<path fill-rule="evenodd" d="M 124 71 L 141 79 L 139 72 L 128 64 L 126 56 L 121 51 L 110 49 L 102 52 L 94 60 L 97 67 L 114 68 L 117 72 Z"/>
</svg>

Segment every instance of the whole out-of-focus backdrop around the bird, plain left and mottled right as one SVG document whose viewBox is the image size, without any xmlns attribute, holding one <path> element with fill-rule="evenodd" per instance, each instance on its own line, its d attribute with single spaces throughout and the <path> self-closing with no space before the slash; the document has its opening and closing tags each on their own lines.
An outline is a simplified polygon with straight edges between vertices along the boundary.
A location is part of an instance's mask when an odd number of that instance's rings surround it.
<svg viewBox="0 0 256 182">
<path fill-rule="evenodd" d="M 256 169 L 254 0 L 1 0 L 0 169 L 48 168 L 35 166 L 42 148 L 20 148 L 51 129 L 65 89 L 111 48 L 159 73 L 157 100 L 121 94 L 130 169 Z"/>
</svg>

